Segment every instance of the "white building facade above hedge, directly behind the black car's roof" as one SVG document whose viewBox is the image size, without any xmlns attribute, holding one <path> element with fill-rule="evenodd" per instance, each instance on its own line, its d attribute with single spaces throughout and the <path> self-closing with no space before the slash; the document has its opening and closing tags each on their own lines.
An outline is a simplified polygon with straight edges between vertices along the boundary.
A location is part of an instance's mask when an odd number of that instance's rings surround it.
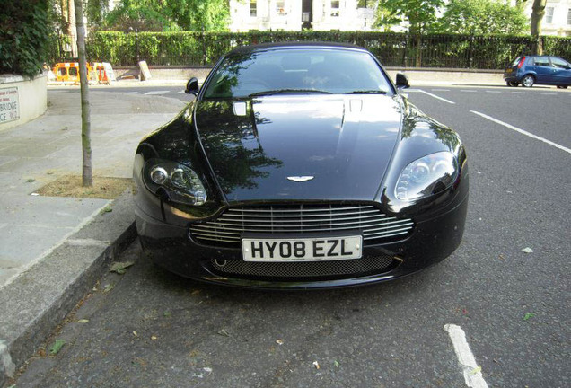
<svg viewBox="0 0 571 388">
<path fill-rule="evenodd" d="M 373 0 L 230 0 L 230 31 L 372 31 Z"/>
</svg>

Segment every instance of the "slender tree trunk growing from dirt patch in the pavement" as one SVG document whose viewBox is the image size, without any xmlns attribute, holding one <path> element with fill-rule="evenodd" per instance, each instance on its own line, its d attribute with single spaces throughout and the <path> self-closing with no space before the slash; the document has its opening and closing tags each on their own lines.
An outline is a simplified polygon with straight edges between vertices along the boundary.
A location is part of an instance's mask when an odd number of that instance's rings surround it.
<svg viewBox="0 0 571 388">
<path fill-rule="evenodd" d="M 79 54 L 79 83 L 82 99 L 82 185 L 93 186 L 92 178 L 92 137 L 89 106 L 89 86 L 87 60 L 85 57 L 85 26 L 83 25 L 82 1 L 75 2 L 75 23 L 77 27 L 77 51 Z"/>
</svg>

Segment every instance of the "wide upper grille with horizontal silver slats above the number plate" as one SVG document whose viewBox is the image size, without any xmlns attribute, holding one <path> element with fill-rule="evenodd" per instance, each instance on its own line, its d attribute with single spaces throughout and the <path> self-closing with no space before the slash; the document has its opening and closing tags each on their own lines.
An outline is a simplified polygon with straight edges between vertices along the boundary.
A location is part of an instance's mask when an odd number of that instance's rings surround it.
<svg viewBox="0 0 571 388">
<path fill-rule="evenodd" d="M 208 245 L 240 247 L 243 233 L 320 234 L 361 233 L 364 244 L 410 234 L 409 218 L 386 216 L 372 205 L 283 205 L 230 207 L 212 221 L 192 224 L 190 234 Z"/>
</svg>

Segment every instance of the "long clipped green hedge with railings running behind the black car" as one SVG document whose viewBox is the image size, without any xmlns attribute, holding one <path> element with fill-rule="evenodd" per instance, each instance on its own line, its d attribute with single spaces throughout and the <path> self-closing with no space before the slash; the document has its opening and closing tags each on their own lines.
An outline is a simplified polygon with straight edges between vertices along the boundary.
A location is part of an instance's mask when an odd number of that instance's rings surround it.
<svg viewBox="0 0 571 388">
<path fill-rule="evenodd" d="M 538 44 L 529 36 L 409 35 L 396 32 L 250 31 L 139 32 L 98 31 L 88 40 L 90 60 L 115 66 L 136 65 L 137 58 L 155 66 L 212 65 L 242 45 L 280 41 L 334 41 L 369 49 L 384 66 L 502 68 Z M 540 37 L 544 52 L 571 59 L 571 39 Z"/>
</svg>

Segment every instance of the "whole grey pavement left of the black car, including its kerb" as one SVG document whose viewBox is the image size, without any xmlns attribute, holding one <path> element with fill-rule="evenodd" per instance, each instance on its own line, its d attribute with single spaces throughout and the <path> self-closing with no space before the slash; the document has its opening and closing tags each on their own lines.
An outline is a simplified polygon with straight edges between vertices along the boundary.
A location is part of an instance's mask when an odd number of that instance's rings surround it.
<svg viewBox="0 0 571 388">
<path fill-rule="evenodd" d="M 91 93 L 91 101 L 93 175 L 120 178 L 131 176 L 141 137 L 185 105 L 126 93 Z M 128 195 L 114 203 L 34 195 L 81 174 L 79 102 L 79 93 L 52 91 L 46 114 L 0 132 L 0 385 L 134 237 Z"/>
</svg>

